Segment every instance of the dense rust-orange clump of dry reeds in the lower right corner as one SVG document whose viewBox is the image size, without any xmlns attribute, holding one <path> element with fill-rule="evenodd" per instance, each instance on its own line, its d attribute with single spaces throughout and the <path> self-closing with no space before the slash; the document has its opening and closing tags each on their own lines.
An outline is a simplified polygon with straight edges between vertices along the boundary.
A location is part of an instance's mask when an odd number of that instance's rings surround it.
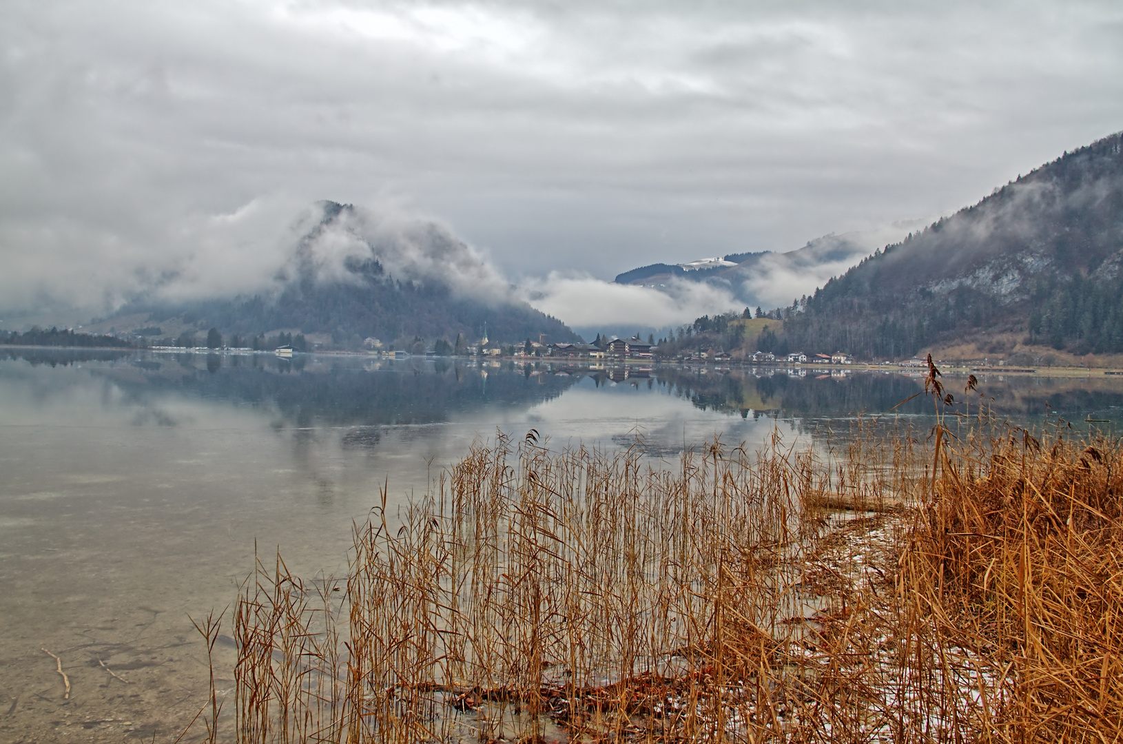
<svg viewBox="0 0 1123 744">
<path fill-rule="evenodd" d="M 949 724 L 979 741 L 1119 741 L 1123 448 L 1063 430 L 969 448 L 943 457 L 898 577 L 904 616 L 943 654 L 933 677 L 971 667 L 958 678 L 974 705 L 948 706 Z"/>
</svg>

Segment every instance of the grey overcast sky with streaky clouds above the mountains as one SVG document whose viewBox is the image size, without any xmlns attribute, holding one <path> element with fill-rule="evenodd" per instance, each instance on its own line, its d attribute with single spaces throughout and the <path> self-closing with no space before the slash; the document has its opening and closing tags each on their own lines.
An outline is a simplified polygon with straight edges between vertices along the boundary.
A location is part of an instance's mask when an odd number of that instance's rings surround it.
<svg viewBox="0 0 1123 744">
<path fill-rule="evenodd" d="M 611 279 L 928 219 L 1123 129 L 1119 0 L 4 0 L 0 39 L 0 309 L 237 284 L 321 199 Z"/>
</svg>

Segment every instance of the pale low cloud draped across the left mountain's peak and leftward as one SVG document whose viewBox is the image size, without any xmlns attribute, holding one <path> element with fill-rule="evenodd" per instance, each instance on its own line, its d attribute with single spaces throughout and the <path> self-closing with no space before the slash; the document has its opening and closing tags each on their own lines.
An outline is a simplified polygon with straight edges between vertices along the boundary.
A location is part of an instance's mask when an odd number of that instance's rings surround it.
<svg viewBox="0 0 1123 744">
<path fill-rule="evenodd" d="M 483 252 L 439 220 L 392 203 L 367 209 L 255 199 L 229 213 L 190 215 L 149 239 L 161 250 L 120 246 L 116 260 L 97 252 L 71 260 L 58 256 L 49 283 L 4 287 L 2 309 L 64 309 L 89 316 L 137 300 L 270 293 L 299 277 L 356 282 L 348 264 L 371 258 L 402 282 L 437 282 L 458 296 L 492 303 L 514 298 Z"/>
</svg>

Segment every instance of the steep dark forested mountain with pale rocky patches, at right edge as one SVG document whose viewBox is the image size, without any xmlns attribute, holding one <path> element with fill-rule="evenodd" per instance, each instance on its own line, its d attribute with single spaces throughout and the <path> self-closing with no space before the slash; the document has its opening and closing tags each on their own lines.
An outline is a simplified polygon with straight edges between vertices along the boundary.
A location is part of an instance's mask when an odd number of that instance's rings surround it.
<svg viewBox="0 0 1123 744">
<path fill-rule="evenodd" d="M 1123 352 L 1121 150 L 1116 134 L 1066 153 L 876 251 L 791 313 L 787 346 Z"/>
</svg>

